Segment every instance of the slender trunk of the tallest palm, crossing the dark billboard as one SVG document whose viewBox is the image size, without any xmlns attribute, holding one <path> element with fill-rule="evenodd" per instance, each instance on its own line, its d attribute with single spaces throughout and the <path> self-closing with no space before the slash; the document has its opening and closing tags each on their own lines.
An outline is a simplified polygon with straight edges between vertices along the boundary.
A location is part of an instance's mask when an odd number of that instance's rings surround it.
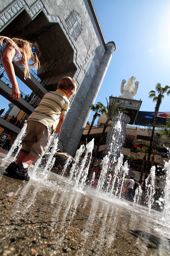
<svg viewBox="0 0 170 256">
<path fill-rule="evenodd" d="M 148 173 L 149 173 L 149 164 L 150 164 L 150 157 L 151 157 L 151 151 L 152 151 L 152 142 L 153 142 L 153 136 L 154 136 L 154 132 L 155 132 L 155 126 L 156 126 L 156 119 L 157 119 L 157 115 L 158 115 L 158 111 L 159 111 L 159 107 L 161 104 L 161 93 L 159 93 L 158 95 L 158 100 L 155 106 L 155 115 L 154 115 L 154 121 L 153 121 L 153 127 L 152 127 L 152 135 L 151 135 L 151 140 L 150 140 L 150 145 L 149 145 L 149 151 L 148 151 L 148 159 L 147 159 L 147 164 L 146 164 L 146 169 L 145 169 L 145 176 L 144 176 L 144 190 L 145 190 L 145 180 L 148 177 Z"/>
</svg>

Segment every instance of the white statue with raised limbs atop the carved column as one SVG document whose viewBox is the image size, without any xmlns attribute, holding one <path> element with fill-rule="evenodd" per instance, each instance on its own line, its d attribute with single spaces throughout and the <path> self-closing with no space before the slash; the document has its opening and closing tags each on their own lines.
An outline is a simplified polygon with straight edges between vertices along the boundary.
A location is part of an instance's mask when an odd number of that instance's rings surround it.
<svg viewBox="0 0 170 256">
<path fill-rule="evenodd" d="M 139 82 L 136 81 L 135 82 L 135 87 L 133 86 L 133 83 L 134 83 L 135 79 L 136 79 L 136 77 L 134 77 L 134 76 L 130 77 L 127 85 L 125 86 L 125 88 L 124 88 L 124 84 L 126 83 L 126 80 L 125 79 L 122 80 L 122 84 L 121 84 L 121 93 L 122 93 L 122 95 L 120 95 L 119 98 L 134 100 L 133 96 L 136 95 L 138 85 L 139 85 Z"/>
</svg>

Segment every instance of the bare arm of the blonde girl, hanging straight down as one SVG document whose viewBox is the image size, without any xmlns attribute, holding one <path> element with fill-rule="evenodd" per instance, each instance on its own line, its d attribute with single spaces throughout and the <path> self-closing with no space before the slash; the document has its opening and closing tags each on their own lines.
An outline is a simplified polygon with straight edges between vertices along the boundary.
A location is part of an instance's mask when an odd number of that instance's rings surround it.
<svg viewBox="0 0 170 256">
<path fill-rule="evenodd" d="M 19 92 L 19 88 L 18 88 L 18 83 L 17 83 L 17 79 L 15 76 L 15 71 L 14 71 L 14 67 L 12 65 L 12 59 L 15 55 L 15 49 L 11 47 L 11 44 L 8 44 L 3 57 L 2 57 L 2 64 L 4 66 L 5 72 L 12 84 L 12 94 L 11 94 L 11 98 L 13 100 L 18 100 L 20 97 L 20 92 Z"/>
</svg>

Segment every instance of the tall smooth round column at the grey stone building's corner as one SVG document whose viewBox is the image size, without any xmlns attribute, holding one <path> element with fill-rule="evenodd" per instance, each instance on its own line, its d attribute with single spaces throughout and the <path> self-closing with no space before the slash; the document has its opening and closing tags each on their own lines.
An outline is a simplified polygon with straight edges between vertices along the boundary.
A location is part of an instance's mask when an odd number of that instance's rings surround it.
<svg viewBox="0 0 170 256">
<path fill-rule="evenodd" d="M 96 100 L 115 48 L 116 47 L 114 42 L 109 42 L 107 44 L 107 51 L 103 56 L 103 59 L 92 82 L 91 88 L 78 115 L 77 121 L 72 129 L 71 135 L 69 136 L 67 144 L 64 146 L 63 151 L 69 153 L 71 156 L 74 156 L 76 153 L 79 141 L 91 112 L 90 105 L 94 104 Z"/>
</svg>

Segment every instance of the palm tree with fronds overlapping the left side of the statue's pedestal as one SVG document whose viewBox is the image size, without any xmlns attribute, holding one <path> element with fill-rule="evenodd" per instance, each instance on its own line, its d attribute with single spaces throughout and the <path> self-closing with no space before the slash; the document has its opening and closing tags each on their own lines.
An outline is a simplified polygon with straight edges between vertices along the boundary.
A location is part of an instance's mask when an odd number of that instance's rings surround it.
<svg viewBox="0 0 170 256">
<path fill-rule="evenodd" d="M 107 100 L 107 98 L 106 98 L 106 100 Z M 103 131 L 100 135 L 99 142 L 97 144 L 95 155 L 94 155 L 94 158 L 93 158 L 93 161 L 92 161 L 92 166 L 95 163 L 97 153 L 99 151 L 100 144 L 103 140 L 106 128 L 109 126 L 109 121 L 111 120 L 111 118 L 113 116 L 117 115 L 118 113 L 127 113 L 127 110 L 125 108 L 121 108 L 121 105 L 123 104 L 123 102 L 116 105 L 116 101 L 117 101 L 117 98 L 115 98 L 115 100 L 112 101 L 112 103 L 107 101 L 106 122 L 104 123 Z"/>
</svg>

